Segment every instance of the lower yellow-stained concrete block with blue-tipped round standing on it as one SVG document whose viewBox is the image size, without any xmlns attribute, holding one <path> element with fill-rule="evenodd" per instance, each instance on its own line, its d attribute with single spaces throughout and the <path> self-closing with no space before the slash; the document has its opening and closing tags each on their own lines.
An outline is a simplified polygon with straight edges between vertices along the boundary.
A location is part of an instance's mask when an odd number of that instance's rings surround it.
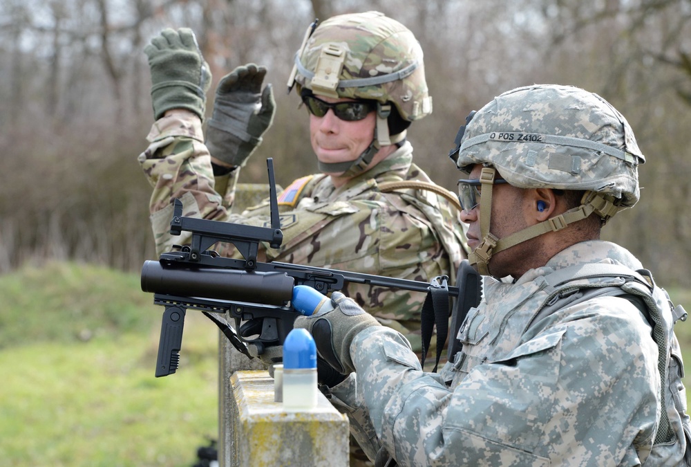
<svg viewBox="0 0 691 467">
<path fill-rule="evenodd" d="M 235 372 L 230 386 L 232 466 L 349 465 L 348 419 L 323 394 L 309 412 L 285 412 L 266 371 Z"/>
</svg>

